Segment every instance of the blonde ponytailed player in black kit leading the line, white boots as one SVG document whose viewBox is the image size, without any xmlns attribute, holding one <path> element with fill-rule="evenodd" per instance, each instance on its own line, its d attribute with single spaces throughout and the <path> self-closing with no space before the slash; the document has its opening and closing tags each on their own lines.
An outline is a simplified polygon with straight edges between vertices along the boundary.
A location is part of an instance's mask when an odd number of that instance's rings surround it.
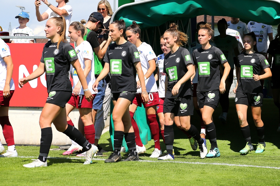
<svg viewBox="0 0 280 186">
<path fill-rule="evenodd" d="M 18 82 L 23 87 L 28 81 L 36 79 L 46 72 L 48 98 L 39 120 L 41 127 L 40 154 L 37 160 L 23 165 L 24 167 L 47 166 L 46 160 L 52 143 L 52 123 L 58 131 L 63 132 L 85 149 L 86 161 L 84 164 L 90 164 L 94 153 L 97 151 L 97 147 L 90 144 L 78 129 L 67 124 L 65 104 L 72 94 L 72 86 L 69 80 L 70 64 L 77 71 L 84 88 L 85 98 L 90 101 L 93 96 L 88 89 L 88 84 L 77 54 L 73 47 L 66 41 L 65 30 L 66 23 L 64 17 L 52 17 L 48 19 L 44 31 L 50 41 L 44 46 L 41 62 L 32 74 L 26 78 L 21 78 Z"/>
</svg>

